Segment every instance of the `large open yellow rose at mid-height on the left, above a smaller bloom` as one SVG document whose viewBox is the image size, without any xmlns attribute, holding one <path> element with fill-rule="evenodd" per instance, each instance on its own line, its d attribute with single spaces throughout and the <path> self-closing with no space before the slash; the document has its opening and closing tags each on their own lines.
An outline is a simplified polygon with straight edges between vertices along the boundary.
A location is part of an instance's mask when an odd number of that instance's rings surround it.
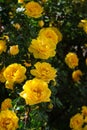
<svg viewBox="0 0 87 130">
<path fill-rule="evenodd" d="M 4 70 L 3 74 L 8 82 L 21 83 L 26 79 L 26 68 L 21 64 L 13 63 Z"/>
</svg>

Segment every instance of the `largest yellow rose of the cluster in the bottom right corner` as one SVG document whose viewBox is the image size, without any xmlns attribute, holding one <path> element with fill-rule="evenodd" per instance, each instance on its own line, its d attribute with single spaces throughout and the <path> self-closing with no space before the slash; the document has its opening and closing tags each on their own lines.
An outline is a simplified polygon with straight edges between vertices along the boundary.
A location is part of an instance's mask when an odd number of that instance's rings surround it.
<svg viewBox="0 0 87 130">
<path fill-rule="evenodd" d="M 79 130 L 84 123 L 83 115 L 77 113 L 70 119 L 70 128 Z"/>
</svg>

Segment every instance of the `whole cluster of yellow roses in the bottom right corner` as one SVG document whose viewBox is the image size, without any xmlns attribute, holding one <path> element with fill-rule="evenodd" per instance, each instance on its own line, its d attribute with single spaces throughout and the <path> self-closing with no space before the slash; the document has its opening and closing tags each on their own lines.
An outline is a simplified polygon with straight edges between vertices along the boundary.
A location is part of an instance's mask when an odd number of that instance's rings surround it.
<svg viewBox="0 0 87 130">
<path fill-rule="evenodd" d="M 87 130 L 87 106 L 83 106 L 80 113 L 70 119 L 72 130 Z"/>
</svg>

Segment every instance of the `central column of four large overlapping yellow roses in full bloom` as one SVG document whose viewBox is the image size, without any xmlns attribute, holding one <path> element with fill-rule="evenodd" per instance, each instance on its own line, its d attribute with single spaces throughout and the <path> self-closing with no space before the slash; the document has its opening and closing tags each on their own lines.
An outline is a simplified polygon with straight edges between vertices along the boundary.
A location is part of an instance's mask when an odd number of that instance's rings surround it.
<svg viewBox="0 0 87 130">
<path fill-rule="evenodd" d="M 56 44 L 62 40 L 62 34 L 54 27 L 42 28 L 36 39 L 32 39 L 28 48 L 33 53 L 34 58 L 48 59 L 55 56 Z M 34 79 L 26 81 L 23 86 L 24 91 L 20 96 L 26 100 L 26 104 L 32 105 L 40 102 L 49 102 L 51 90 L 48 83 L 56 77 L 56 69 L 47 62 L 37 62 L 36 69 L 30 73 Z M 29 86 L 29 87 L 28 87 Z"/>
</svg>

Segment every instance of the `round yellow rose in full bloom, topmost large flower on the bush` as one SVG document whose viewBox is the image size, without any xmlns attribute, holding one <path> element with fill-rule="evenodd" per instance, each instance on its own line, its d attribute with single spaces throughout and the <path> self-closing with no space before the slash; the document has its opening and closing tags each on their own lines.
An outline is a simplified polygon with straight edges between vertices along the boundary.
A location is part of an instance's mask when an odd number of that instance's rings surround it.
<svg viewBox="0 0 87 130">
<path fill-rule="evenodd" d="M 25 14 L 33 18 L 39 18 L 42 15 L 43 8 L 38 2 L 30 1 L 25 5 Z"/>
</svg>

